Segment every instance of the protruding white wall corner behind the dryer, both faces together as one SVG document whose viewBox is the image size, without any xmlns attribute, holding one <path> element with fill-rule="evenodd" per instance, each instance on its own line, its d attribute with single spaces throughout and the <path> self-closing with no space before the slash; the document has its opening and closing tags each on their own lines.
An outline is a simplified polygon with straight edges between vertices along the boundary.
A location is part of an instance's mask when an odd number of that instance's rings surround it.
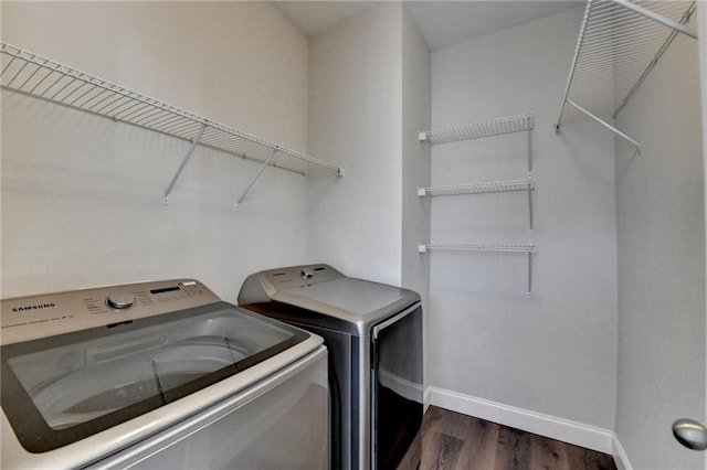
<svg viewBox="0 0 707 470">
<path fill-rule="evenodd" d="M 426 332 L 430 264 L 416 247 L 430 204 L 416 188 L 430 184 L 418 141 L 430 127 L 430 51 L 403 4 L 381 3 L 313 38 L 309 71 L 310 148 L 347 168 L 340 181 L 310 181 L 312 256 L 418 291 Z"/>
</svg>

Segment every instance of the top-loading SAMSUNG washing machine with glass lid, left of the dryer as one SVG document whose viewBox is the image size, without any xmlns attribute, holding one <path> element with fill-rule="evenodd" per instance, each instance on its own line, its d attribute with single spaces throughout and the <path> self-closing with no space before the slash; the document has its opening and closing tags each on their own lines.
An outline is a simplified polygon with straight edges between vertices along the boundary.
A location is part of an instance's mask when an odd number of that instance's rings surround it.
<svg viewBox="0 0 707 470">
<path fill-rule="evenodd" d="M 1 307 L 4 470 L 327 468 L 316 334 L 193 279 Z"/>
</svg>

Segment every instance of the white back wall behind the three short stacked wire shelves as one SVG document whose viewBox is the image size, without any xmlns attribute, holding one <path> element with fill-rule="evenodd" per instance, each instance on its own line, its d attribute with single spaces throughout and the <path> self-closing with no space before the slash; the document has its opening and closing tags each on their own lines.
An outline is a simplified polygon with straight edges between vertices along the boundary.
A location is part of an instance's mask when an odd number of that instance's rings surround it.
<svg viewBox="0 0 707 470">
<path fill-rule="evenodd" d="M 517 254 L 432 252 L 432 403 L 609 451 L 616 374 L 613 137 L 552 125 L 582 9 L 432 54 L 432 127 L 535 111 L 536 229 L 523 193 L 435 197 L 435 243 L 528 243 Z M 434 146 L 432 184 L 523 179 L 525 132 Z M 551 429 L 545 429 L 546 424 Z M 579 434 L 571 435 L 572 429 Z"/>
</svg>

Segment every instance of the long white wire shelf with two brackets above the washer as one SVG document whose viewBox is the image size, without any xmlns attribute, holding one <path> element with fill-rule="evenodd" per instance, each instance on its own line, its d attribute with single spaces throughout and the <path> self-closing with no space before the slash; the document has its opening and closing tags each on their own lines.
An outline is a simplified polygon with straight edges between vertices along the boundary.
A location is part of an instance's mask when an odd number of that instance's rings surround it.
<svg viewBox="0 0 707 470">
<path fill-rule="evenodd" d="M 3 89 L 191 142 L 177 173 L 165 190 L 163 202 L 167 202 L 197 146 L 263 163 L 239 199 L 239 204 L 267 165 L 300 174 L 344 174 L 344 169 L 335 164 L 215 122 L 20 47 L 0 43 L 0 78 Z"/>
</svg>

